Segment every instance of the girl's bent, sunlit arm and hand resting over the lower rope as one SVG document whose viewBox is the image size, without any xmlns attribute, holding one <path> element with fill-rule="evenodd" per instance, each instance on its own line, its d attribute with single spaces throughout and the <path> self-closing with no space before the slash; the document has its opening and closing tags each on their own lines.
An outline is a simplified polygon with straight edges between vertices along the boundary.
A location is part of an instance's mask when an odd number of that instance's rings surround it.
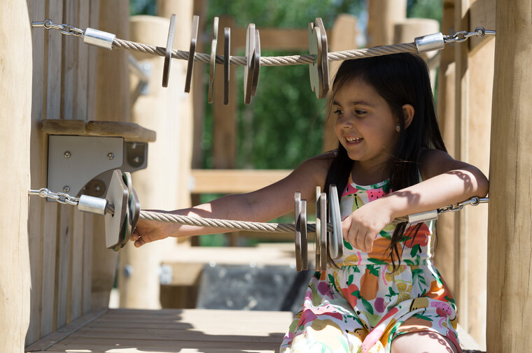
<svg viewBox="0 0 532 353">
<path fill-rule="evenodd" d="M 483 197 L 488 192 L 488 180 L 478 168 L 440 150 L 423 152 L 420 171 L 422 182 L 367 203 L 344 219 L 344 238 L 358 249 L 370 251 L 379 231 L 396 217 Z"/>
</svg>

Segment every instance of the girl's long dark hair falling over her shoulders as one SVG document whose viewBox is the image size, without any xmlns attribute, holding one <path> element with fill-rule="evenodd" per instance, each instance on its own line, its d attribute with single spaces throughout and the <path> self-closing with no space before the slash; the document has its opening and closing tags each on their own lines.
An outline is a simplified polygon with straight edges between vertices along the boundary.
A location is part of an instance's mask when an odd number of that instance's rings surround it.
<svg viewBox="0 0 532 353">
<path fill-rule="evenodd" d="M 397 191 L 418 183 L 421 150 L 435 148 L 447 152 L 437 126 L 434 98 L 425 62 L 421 57 L 409 53 L 344 61 L 332 84 L 329 114 L 335 93 L 353 79 L 362 80 L 374 87 L 398 117 L 400 137 L 386 168 L 391 189 Z M 402 106 L 405 104 L 414 107 L 414 118 L 407 129 L 402 112 Z M 342 144 L 338 143 L 336 156 L 330 164 L 325 179 L 325 192 L 328 192 L 329 185 L 335 184 L 338 196 L 341 197 L 352 167 L 353 160 L 349 158 Z M 388 247 L 394 268 L 395 258 L 400 263 L 398 243 L 403 238 L 406 226 L 405 222 L 395 227 Z"/>
</svg>

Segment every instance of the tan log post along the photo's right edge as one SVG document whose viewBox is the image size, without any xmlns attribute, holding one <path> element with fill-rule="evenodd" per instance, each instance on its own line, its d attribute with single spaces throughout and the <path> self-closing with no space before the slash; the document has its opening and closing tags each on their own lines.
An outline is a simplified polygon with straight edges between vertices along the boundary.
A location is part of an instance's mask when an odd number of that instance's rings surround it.
<svg viewBox="0 0 532 353">
<path fill-rule="evenodd" d="M 530 352 L 532 336 L 532 3 L 496 3 L 491 119 L 489 353 Z"/>
</svg>

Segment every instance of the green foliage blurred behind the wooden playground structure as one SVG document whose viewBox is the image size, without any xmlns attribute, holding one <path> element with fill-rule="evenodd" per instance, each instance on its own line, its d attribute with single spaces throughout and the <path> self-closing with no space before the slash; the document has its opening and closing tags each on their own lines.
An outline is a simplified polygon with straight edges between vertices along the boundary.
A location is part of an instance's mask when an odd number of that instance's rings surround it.
<svg viewBox="0 0 532 353">
<path fill-rule="evenodd" d="M 258 29 L 306 28 L 309 21 L 321 17 L 325 27 L 330 28 L 337 15 L 351 13 L 358 17 L 360 31 L 364 31 L 367 22 L 366 8 L 365 0 L 208 0 L 207 23 L 214 16 L 230 15 L 239 27 L 247 27 L 251 22 Z M 130 9 L 132 15 L 154 15 L 155 1 L 130 0 Z M 408 17 L 427 17 L 440 21 L 441 13 L 440 0 L 407 1 Z M 275 56 L 307 53 L 263 50 L 261 54 Z M 244 53 L 236 52 L 234 55 Z M 204 69 L 208 70 L 208 67 L 205 66 Z M 237 168 L 295 168 L 304 159 L 319 154 L 325 99 L 318 100 L 314 92 L 311 92 L 308 66 L 262 67 L 258 92 L 249 106 L 244 106 L 242 99 L 243 71 L 241 67 L 237 69 Z M 202 140 L 204 168 L 212 166 L 211 137 L 211 106 L 206 103 Z"/>
</svg>

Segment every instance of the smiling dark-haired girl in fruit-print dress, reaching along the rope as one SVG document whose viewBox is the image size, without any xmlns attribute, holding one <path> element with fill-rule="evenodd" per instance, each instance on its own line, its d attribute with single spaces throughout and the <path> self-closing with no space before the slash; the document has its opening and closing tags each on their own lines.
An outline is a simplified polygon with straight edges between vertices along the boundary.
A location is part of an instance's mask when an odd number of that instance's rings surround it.
<svg viewBox="0 0 532 353">
<path fill-rule="evenodd" d="M 335 184 L 344 256 L 315 273 L 280 352 L 461 352 L 456 304 L 432 261 L 435 222 L 391 222 L 484 196 L 486 177 L 447 154 L 419 57 L 345 61 L 330 97 L 336 151 L 258 191 L 172 213 L 265 222 L 292 210 L 294 192 L 311 200 Z M 141 221 L 132 240 L 218 232 Z"/>
</svg>

